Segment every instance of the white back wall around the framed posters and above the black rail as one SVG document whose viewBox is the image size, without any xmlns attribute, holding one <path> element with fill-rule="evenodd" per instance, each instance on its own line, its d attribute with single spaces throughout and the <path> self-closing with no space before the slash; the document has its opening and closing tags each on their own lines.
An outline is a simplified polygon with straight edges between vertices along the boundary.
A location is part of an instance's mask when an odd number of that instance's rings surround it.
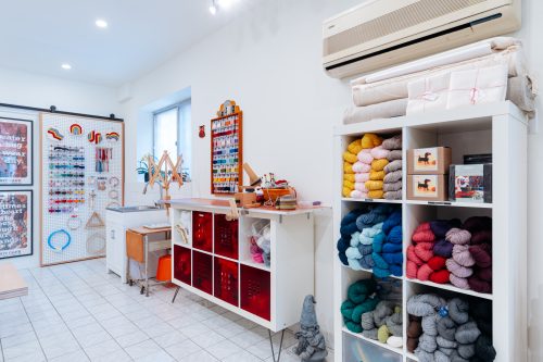
<svg viewBox="0 0 543 362">
<path fill-rule="evenodd" d="M 0 68 L 0 103 L 49 108 L 56 105 L 60 111 L 87 113 L 108 116 L 115 113 L 119 105 L 116 102 L 116 89 L 94 86 L 85 83 L 40 76 L 24 72 L 14 72 Z M 11 262 L 17 267 L 35 267 L 39 265 L 39 199 L 40 199 L 40 170 L 39 170 L 39 125 L 37 113 L 0 108 L 0 115 L 31 120 L 34 125 L 34 186 L 33 187 L 2 187 L 4 189 L 34 190 L 34 254 L 0 260 Z"/>
</svg>

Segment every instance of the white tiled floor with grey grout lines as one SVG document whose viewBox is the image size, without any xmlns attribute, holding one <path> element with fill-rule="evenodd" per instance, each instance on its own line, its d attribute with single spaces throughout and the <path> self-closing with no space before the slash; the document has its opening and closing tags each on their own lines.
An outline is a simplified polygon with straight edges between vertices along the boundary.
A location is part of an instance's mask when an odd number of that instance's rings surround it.
<svg viewBox="0 0 543 362">
<path fill-rule="evenodd" d="M 186 291 L 146 298 L 103 260 L 22 273 L 29 296 L 0 301 L 0 362 L 273 361 L 266 329 Z M 287 330 L 281 361 L 300 361 L 295 342 Z"/>
</svg>

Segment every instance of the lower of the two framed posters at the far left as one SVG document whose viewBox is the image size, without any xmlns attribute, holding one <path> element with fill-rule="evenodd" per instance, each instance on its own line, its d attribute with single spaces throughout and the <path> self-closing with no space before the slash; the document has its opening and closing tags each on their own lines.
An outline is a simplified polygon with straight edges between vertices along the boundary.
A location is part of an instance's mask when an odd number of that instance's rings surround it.
<svg viewBox="0 0 543 362">
<path fill-rule="evenodd" d="M 33 254 L 33 191 L 0 191 L 0 259 Z"/>
</svg>

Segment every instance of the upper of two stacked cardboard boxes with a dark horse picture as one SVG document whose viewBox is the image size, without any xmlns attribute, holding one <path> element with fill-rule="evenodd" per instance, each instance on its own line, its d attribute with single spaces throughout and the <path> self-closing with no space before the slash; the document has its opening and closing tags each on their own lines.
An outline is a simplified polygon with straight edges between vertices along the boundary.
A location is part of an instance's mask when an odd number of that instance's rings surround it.
<svg viewBox="0 0 543 362">
<path fill-rule="evenodd" d="M 449 173 L 452 152 L 449 147 L 407 150 L 408 175 L 444 175 Z"/>
</svg>

